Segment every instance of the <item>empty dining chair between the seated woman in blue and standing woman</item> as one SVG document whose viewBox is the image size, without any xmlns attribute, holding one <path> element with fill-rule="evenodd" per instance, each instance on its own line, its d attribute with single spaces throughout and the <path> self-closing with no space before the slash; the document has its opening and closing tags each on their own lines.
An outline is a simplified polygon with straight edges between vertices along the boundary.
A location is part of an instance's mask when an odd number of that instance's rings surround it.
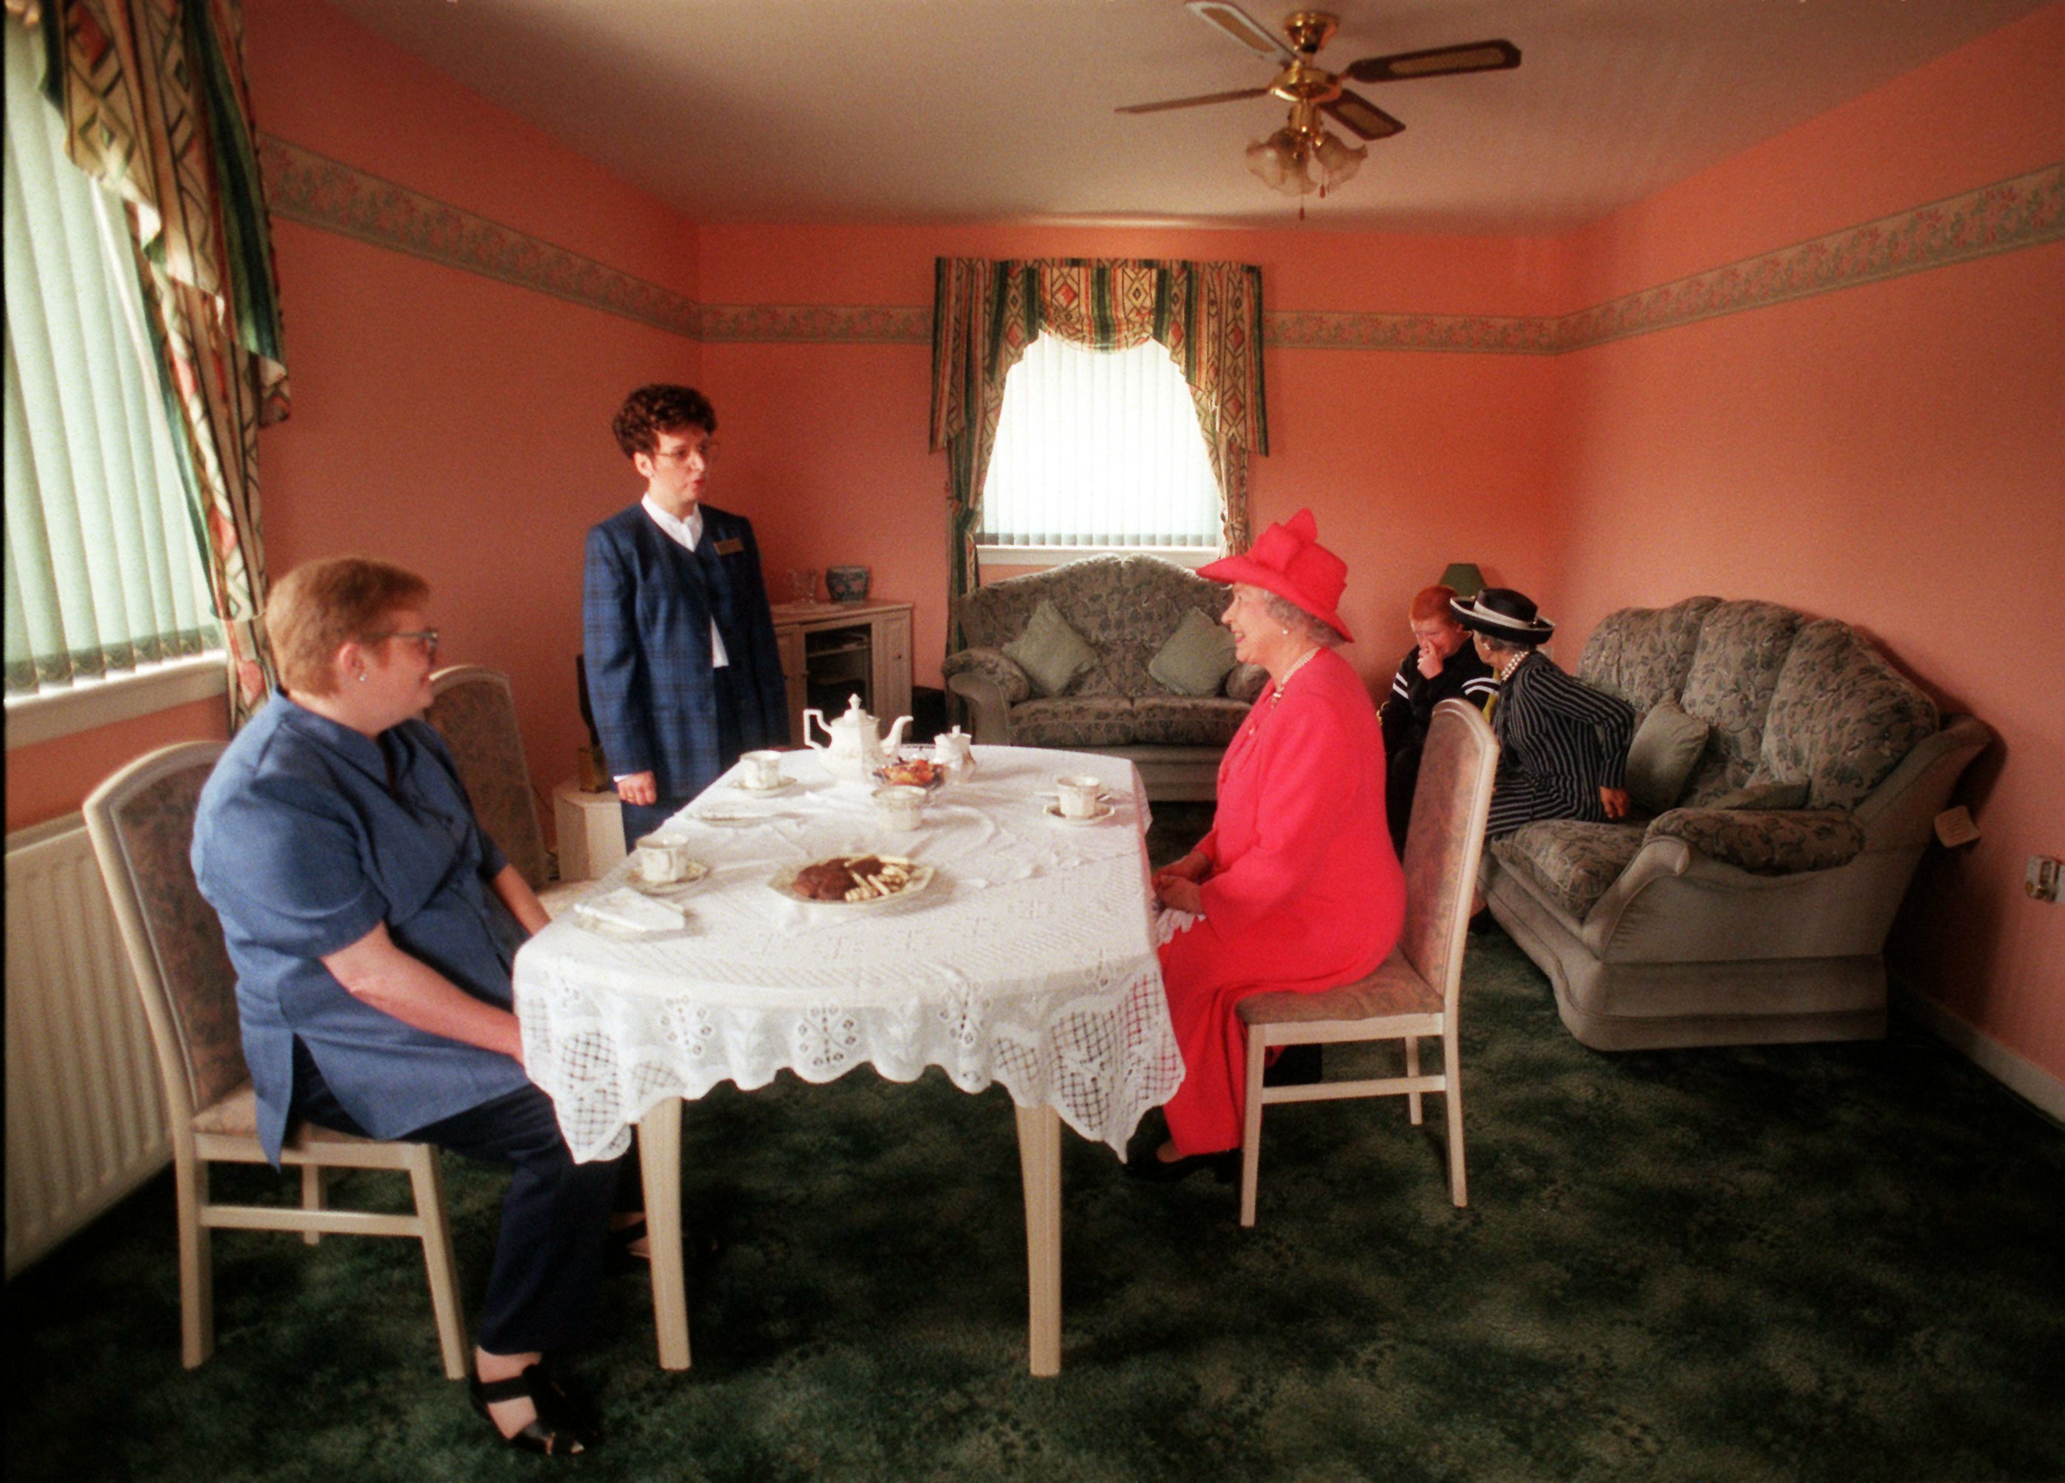
<svg viewBox="0 0 2065 1483">
<path fill-rule="evenodd" d="M 430 677 L 430 694 L 425 721 L 452 750 L 473 816 L 545 911 L 558 915 L 589 894 L 593 882 L 549 880 L 545 830 L 537 820 L 537 793 L 531 791 L 508 675 L 485 665 L 448 665 Z"/>
</svg>

